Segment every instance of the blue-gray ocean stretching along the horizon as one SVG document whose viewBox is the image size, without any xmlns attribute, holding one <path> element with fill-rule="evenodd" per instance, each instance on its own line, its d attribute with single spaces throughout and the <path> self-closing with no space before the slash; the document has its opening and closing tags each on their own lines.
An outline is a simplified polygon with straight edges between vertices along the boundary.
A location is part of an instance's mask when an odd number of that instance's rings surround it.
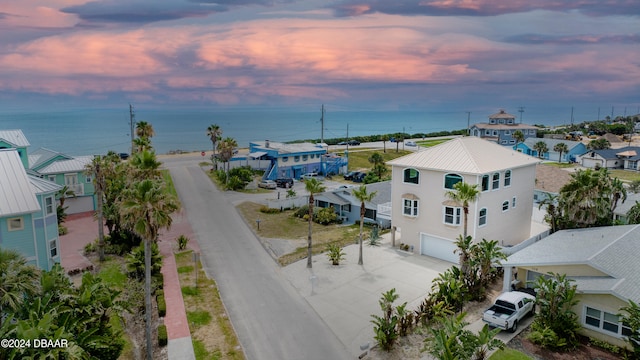
<svg viewBox="0 0 640 360">
<path fill-rule="evenodd" d="M 479 113 L 478 113 L 479 114 Z M 484 122 L 476 115 L 471 123 Z M 151 139 L 156 153 L 211 150 L 206 129 L 218 124 L 223 137 L 234 138 L 240 147 L 251 141 L 287 142 L 319 139 L 321 112 L 299 110 L 184 110 L 135 109 L 136 121 L 154 128 Z M 21 129 L 31 144 L 68 155 L 105 154 L 109 150 L 130 152 L 129 109 L 74 109 L 0 112 L 0 129 Z M 553 125 L 553 124 L 547 124 Z M 467 127 L 466 112 L 425 111 L 326 111 L 324 138 L 409 134 L 457 130 Z"/>
</svg>

